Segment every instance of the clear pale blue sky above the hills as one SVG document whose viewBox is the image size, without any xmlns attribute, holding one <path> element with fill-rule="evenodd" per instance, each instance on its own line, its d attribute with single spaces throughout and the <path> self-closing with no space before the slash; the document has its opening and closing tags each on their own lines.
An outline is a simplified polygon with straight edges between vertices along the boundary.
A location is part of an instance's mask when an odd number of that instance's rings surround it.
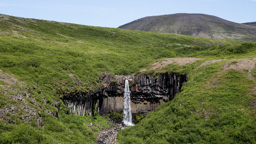
<svg viewBox="0 0 256 144">
<path fill-rule="evenodd" d="M 174 13 L 204 13 L 242 23 L 256 21 L 256 0 L 0 0 L 0 13 L 102 27 Z"/>
</svg>

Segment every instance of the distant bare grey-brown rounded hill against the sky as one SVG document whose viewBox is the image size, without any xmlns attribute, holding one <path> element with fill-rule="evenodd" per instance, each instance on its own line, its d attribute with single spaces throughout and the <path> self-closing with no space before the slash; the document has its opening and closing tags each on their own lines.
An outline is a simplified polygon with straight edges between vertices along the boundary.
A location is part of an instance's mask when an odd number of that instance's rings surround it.
<svg viewBox="0 0 256 144">
<path fill-rule="evenodd" d="M 256 40 L 255 27 L 204 14 L 150 16 L 132 21 L 119 28 L 214 39 Z"/>
</svg>

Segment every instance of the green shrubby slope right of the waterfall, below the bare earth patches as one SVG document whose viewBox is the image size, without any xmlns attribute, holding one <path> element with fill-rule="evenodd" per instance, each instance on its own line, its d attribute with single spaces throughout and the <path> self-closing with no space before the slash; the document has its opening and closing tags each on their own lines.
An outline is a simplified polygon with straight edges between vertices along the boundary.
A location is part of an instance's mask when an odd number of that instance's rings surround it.
<svg viewBox="0 0 256 144">
<path fill-rule="evenodd" d="M 191 69 L 183 91 L 119 132 L 120 143 L 255 143 L 255 82 L 222 65 Z"/>
</svg>

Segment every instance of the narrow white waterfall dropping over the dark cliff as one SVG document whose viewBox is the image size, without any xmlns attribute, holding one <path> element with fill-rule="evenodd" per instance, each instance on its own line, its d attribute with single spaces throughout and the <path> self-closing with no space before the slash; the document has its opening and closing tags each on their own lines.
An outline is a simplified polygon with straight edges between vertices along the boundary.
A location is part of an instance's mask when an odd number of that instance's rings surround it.
<svg viewBox="0 0 256 144">
<path fill-rule="evenodd" d="M 132 111 L 131 111 L 131 99 L 130 99 L 130 90 L 129 90 L 129 81 L 125 80 L 125 89 L 124 89 L 124 117 L 123 123 L 126 126 L 133 126 L 132 123 Z"/>
</svg>

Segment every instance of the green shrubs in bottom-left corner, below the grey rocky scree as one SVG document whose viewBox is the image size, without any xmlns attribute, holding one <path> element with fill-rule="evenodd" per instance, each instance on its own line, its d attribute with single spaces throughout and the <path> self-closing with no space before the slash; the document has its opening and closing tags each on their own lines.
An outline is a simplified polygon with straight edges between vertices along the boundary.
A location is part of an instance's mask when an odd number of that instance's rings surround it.
<svg viewBox="0 0 256 144">
<path fill-rule="evenodd" d="M 36 121 L 24 123 L 14 117 L 13 124 L 0 121 L 0 143 L 96 143 L 96 132 L 114 125 L 98 115 L 93 118 L 60 113 L 58 119 L 47 114 L 42 118 L 43 127 L 37 127 Z"/>
</svg>

